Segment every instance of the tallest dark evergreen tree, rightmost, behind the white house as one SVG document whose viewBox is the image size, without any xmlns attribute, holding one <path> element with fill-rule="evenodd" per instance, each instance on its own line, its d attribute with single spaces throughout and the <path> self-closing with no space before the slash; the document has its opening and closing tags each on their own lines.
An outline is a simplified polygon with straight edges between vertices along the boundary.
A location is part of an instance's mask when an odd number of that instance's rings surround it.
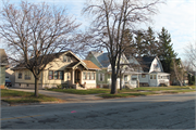
<svg viewBox="0 0 196 130">
<path fill-rule="evenodd" d="M 171 43 L 171 36 L 168 30 L 162 27 L 160 34 L 158 34 L 158 56 L 162 62 L 162 67 L 164 73 L 173 72 L 172 58 L 176 57 L 176 53 L 173 50 L 173 44 Z"/>
</svg>

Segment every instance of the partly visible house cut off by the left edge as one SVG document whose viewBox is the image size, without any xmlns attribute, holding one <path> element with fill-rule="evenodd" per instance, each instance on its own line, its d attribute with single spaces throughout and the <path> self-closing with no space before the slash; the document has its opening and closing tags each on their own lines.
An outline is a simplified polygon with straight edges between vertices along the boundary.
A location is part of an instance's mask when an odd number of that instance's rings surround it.
<svg viewBox="0 0 196 130">
<path fill-rule="evenodd" d="M 5 83 L 5 66 L 9 65 L 8 56 L 4 49 L 0 49 L 0 88 L 4 89 Z"/>
</svg>

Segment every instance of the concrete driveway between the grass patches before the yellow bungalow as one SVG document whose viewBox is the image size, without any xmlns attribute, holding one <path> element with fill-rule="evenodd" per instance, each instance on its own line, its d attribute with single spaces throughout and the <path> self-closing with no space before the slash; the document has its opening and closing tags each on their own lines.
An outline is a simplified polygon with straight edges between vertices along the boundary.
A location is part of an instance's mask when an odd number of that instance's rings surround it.
<svg viewBox="0 0 196 130">
<path fill-rule="evenodd" d="M 35 90 L 33 89 L 9 88 L 9 90 L 35 92 Z M 79 95 L 79 94 L 70 94 L 70 93 L 53 92 L 53 91 L 47 91 L 47 90 L 39 90 L 38 93 L 48 95 L 48 96 L 58 98 L 58 99 L 64 100 L 65 102 L 83 102 L 83 101 L 102 100 L 102 98 L 96 96 L 97 94 Z M 9 104 L 1 102 L 1 106 L 9 106 Z"/>
</svg>

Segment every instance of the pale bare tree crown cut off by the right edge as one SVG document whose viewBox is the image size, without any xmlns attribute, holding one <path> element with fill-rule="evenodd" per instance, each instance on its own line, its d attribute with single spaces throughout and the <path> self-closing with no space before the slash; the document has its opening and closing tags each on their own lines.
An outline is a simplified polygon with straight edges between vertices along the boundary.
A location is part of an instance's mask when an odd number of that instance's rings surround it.
<svg viewBox="0 0 196 130">
<path fill-rule="evenodd" d="M 185 56 L 188 60 L 188 63 L 192 65 L 194 69 L 196 69 L 196 41 L 194 43 L 189 43 L 185 49 Z"/>
</svg>

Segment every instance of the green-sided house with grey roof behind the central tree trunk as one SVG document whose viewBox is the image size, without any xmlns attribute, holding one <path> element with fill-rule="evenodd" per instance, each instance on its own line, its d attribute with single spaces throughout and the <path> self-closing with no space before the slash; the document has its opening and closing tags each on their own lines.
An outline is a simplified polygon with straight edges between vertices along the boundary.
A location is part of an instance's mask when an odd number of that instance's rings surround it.
<svg viewBox="0 0 196 130">
<path fill-rule="evenodd" d="M 86 60 L 91 61 L 94 64 L 96 64 L 101 70 L 98 70 L 97 76 L 97 86 L 100 88 L 110 88 L 111 87 L 111 65 L 108 57 L 108 53 L 103 52 L 89 52 Z M 128 66 L 128 61 L 123 54 L 120 61 L 121 64 L 121 70 L 122 70 L 122 86 L 125 87 L 131 86 L 133 88 L 136 88 L 136 81 L 132 82 L 131 76 L 135 74 L 134 69 Z M 118 77 L 117 81 L 117 88 L 120 88 L 120 77 Z"/>
</svg>

